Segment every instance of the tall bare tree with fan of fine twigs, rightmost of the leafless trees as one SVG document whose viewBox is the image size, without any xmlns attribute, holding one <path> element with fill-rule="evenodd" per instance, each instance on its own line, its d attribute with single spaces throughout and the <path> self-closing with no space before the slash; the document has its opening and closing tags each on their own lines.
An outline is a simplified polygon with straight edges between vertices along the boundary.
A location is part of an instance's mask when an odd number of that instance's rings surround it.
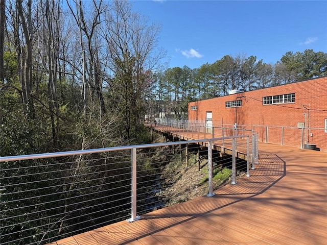
<svg viewBox="0 0 327 245">
<path fill-rule="evenodd" d="M 103 37 L 114 74 L 111 91 L 113 97 L 121 98 L 118 106 L 129 138 L 144 111 L 144 91 L 152 81 L 149 77 L 152 72 L 147 71 L 155 71 L 165 53 L 157 46 L 159 27 L 148 26 L 146 18 L 133 13 L 127 1 L 113 1 L 104 23 Z"/>
</svg>

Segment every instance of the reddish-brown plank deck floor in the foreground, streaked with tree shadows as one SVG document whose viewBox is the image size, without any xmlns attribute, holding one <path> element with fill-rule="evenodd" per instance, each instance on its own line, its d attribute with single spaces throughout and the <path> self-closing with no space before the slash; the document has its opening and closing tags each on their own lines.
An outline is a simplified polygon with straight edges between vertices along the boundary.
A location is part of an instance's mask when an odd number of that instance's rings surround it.
<svg viewBox="0 0 327 245">
<path fill-rule="evenodd" d="M 327 244 L 327 153 L 259 144 L 251 177 L 51 244 Z"/>
</svg>

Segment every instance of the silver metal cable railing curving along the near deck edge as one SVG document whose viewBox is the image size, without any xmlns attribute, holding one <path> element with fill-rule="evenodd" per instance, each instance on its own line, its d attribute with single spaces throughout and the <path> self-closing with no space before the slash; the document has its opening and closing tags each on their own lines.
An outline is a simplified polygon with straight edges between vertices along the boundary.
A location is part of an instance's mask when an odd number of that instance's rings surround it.
<svg viewBox="0 0 327 245">
<path fill-rule="evenodd" d="M 132 222 L 137 214 L 194 194 L 211 196 L 222 184 L 216 173 L 231 169 L 231 182 L 236 184 L 237 173 L 248 174 L 250 164 L 254 167 L 251 156 L 258 144 L 250 143 L 252 139 L 244 134 L 1 157 L 1 244 L 49 243 L 127 218 Z M 237 158 L 236 141 L 247 161 Z M 213 145 L 223 143 L 230 145 L 231 155 L 213 151 Z M 186 172 L 203 180 L 185 179 Z M 174 185 L 189 189 L 192 197 L 177 193 Z"/>
</svg>

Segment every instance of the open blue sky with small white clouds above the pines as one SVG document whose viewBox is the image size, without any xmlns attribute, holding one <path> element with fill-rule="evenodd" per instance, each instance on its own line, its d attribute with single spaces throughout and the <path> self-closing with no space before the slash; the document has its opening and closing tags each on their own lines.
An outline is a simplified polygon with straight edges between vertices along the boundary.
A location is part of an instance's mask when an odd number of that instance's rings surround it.
<svg viewBox="0 0 327 245">
<path fill-rule="evenodd" d="M 131 1 L 161 26 L 169 67 L 199 68 L 225 55 L 274 64 L 288 52 L 327 53 L 327 1 Z"/>
</svg>

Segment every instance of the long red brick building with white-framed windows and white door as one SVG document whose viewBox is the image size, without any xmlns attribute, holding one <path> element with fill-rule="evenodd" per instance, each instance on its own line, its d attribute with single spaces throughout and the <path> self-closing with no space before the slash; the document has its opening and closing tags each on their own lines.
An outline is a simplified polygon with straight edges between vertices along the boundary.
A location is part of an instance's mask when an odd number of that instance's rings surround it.
<svg viewBox="0 0 327 245">
<path fill-rule="evenodd" d="M 259 141 L 327 151 L 327 77 L 189 103 L 206 127 L 254 129 Z"/>
</svg>

